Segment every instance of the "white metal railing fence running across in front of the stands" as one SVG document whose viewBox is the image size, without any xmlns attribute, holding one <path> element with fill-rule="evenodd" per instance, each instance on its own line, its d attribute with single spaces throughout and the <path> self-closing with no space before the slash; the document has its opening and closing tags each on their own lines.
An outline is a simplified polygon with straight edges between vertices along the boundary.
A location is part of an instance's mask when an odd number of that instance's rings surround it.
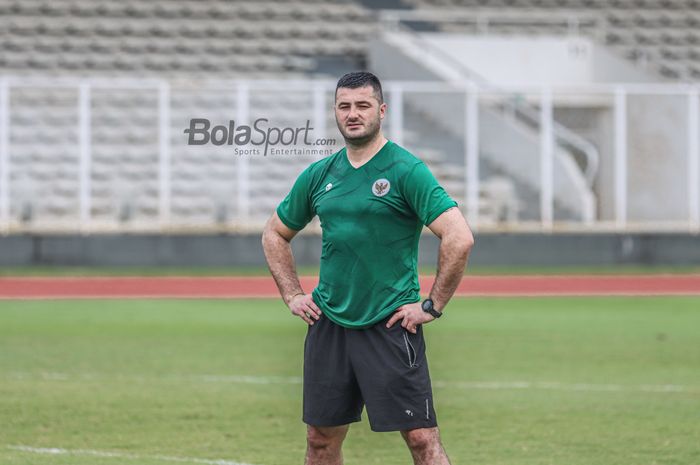
<svg viewBox="0 0 700 465">
<path fill-rule="evenodd" d="M 24 221 L 21 212 L 16 205 L 13 205 L 11 183 L 20 182 L 12 180 L 12 173 L 15 169 L 13 156 L 13 142 L 10 137 L 12 133 L 11 121 L 13 108 L 11 105 L 13 92 L 22 88 L 42 88 L 42 89 L 73 89 L 76 91 L 75 108 L 78 118 L 76 120 L 77 130 L 77 196 L 74 199 L 76 214 L 74 217 L 64 218 L 64 221 Z M 285 173 L 280 175 L 279 182 L 275 182 L 274 188 L 265 185 L 265 180 L 258 179 L 258 184 L 251 182 L 250 168 L 257 163 L 252 157 L 240 156 L 236 161 L 235 170 L 235 192 L 231 202 L 235 204 L 232 209 L 233 214 L 224 215 L 223 221 L 218 221 L 212 216 L 210 220 L 205 220 L 198 224 L 188 224 L 176 222 L 172 216 L 172 166 L 173 166 L 173 140 L 175 130 L 184 131 L 186 127 L 177 127 L 173 123 L 172 98 L 174 92 L 188 92 L 201 89 L 214 90 L 232 93 L 236 96 L 236 108 L 232 108 L 231 119 L 236 119 L 239 123 L 246 122 L 256 114 L 251 108 L 251 96 L 264 95 L 266 93 L 303 93 L 308 96 L 310 108 L 300 111 L 300 118 L 309 114 L 311 124 L 315 129 L 315 137 L 323 138 L 331 133 L 332 127 L 332 92 L 335 82 L 323 80 L 235 80 L 235 81 L 198 81 L 198 82 L 178 82 L 165 80 L 139 80 L 139 79 L 70 79 L 70 78 L 26 78 L 5 76 L 0 79 L 0 229 L 4 233 L 27 232 L 27 231 L 72 231 L 83 233 L 99 232 L 120 232 L 120 231 L 177 231 L 192 227 L 199 230 L 230 230 L 242 231 L 259 229 L 276 202 L 286 193 L 291 186 L 298 172 L 303 169 L 305 163 L 297 161 L 290 168 L 285 168 Z M 641 230 L 691 230 L 700 231 L 700 170 L 699 170 L 699 87 L 692 84 L 601 84 L 586 86 L 502 86 L 497 91 L 494 89 L 481 89 L 473 82 L 465 83 L 433 83 L 433 82 L 413 82 L 413 81 L 392 81 L 386 82 L 387 95 L 391 102 L 391 110 L 388 114 L 388 135 L 397 143 L 407 145 L 412 149 L 407 141 L 404 116 L 404 107 L 408 97 L 413 94 L 433 94 L 455 93 L 462 95 L 464 109 L 464 131 L 461 184 L 463 191 L 458 200 L 466 208 L 464 213 L 473 226 L 477 229 L 507 229 L 507 230 L 537 230 L 537 231 L 595 231 L 614 230 L 629 231 Z M 152 181 L 157 185 L 155 197 L 157 199 L 155 214 L 150 218 L 145 218 L 138 224 L 125 224 L 116 219 L 114 221 L 99 222 L 93 218 L 93 174 L 91 171 L 91 157 L 93 146 L 92 118 L 95 117 L 97 108 L 93 108 L 91 99 L 93 93 L 100 89 L 141 89 L 153 93 L 156 97 L 157 113 L 157 170 L 155 179 Z M 500 95 L 497 95 L 500 94 Z M 685 121 L 678 127 L 679 134 L 685 137 L 685 162 L 675 168 L 678 185 L 685 185 L 685 200 L 683 201 L 685 214 L 682 217 L 668 219 L 649 219 L 644 215 L 629 215 L 630 196 L 635 200 L 637 197 L 643 198 L 644 192 L 634 192 L 630 189 L 629 180 L 636 173 L 629 171 L 629 140 L 628 129 L 630 118 L 628 114 L 628 99 L 631 96 L 656 96 L 660 98 L 683 99 L 685 102 Z M 555 124 L 553 108 L 556 107 L 560 99 L 570 99 L 572 96 L 586 98 L 595 96 L 602 101 L 610 102 L 613 121 L 610 132 L 613 143 L 612 151 L 604 153 L 604 157 L 611 157 L 614 164 L 613 195 L 606 198 L 606 202 L 611 202 L 612 211 L 610 215 L 599 214 L 595 218 L 577 218 L 574 220 L 560 221 L 556 217 L 556 179 L 554 176 L 555 157 L 555 134 L 553 127 Z M 480 218 L 480 191 L 484 179 L 480 176 L 480 160 L 488 158 L 489 154 L 482 153 L 479 144 L 479 113 L 482 105 L 489 105 L 496 99 L 520 98 L 532 102 L 539 108 L 539 135 L 540 153 L 539 158 L 528 163 L 535 164 L 539 171 L 539 186 L 537 186 L 537 196 L 539 200 L 539 215 L 535 220 L 515 220 L 509 218 L 506 222 L 492 222 Z M 275 108 L 269 107 L 269 111 Z M 289 109 L 287 109 L 289 110 Z M 310 113 L 309 113 L 310 112 Z M 294 119 L 294 109 L 291 110 L 289 118 Z M 191 115 L 196 117 L 199 115 Z M 206 117 L 205 115 L 201 115 Z M 274 115 L 273 115 L 274 116 Z M 450 117 L 452 115 L 447 115 Z M 634 116 L 634 115 L 632 115 Z M 664 118 L 663 114 L 650 117 Z M 287 120 L 288 121 L 288 120 Z M 439 122 L 438 122 L 439 123 Z M 31 125 L 31 122 L 26 123 Z M 118 130 L 118 128 L 117 128 Z M 334 148 L 338 148 L 341 139 L 334 133 L 337 142 Z M 177 140 L 177 139 L 175 139 Z M 182 135 L 183 145 L 186 144 L 186 136 Z M 312 155 L 312 159 L 313 156 Z M 318 156 L 316 156 L 318 158 Z M 270 159 L 267 165 L 274 165 L 275 161 Z M 48 180 L 47 182 L 50 182 Z M 203 186 L 206 186 L 206 180 Z M 256 186 L 263 183 L 262 191 L 267 192 L 265 199 L 259 197 L 260 188 Z M 31 192 L 30 192 L 31 195 Z M 682 195 L 682 194 L 681 194 Z M 678 197 L 676 196 L 675 199 Z M 40 199 L 37 199 L 40 200 Z M 263 214 L 261 212 L 266 212 Z M 190 229 L 192 229 L 190 228 Z"/>
</svg>

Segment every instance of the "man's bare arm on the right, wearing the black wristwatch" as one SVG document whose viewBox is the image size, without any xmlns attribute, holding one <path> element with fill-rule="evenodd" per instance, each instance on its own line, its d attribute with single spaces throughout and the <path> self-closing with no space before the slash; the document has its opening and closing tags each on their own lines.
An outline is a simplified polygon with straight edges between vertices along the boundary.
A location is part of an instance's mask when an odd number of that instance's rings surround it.
<svg viewBox="0 0 700 465">
<path fill-rule="evenodd" d="M 435 310 L 442 311 L 462 279 L 469 252 L 474 245 L 474 236 L 457 207 L 442 212 L 428 228 L 440 239 L 437 275 L 430 290 L 430 299 Z M 430 313 L 423 311 L 420 302 L 406 304 L 396 309 L 387 322 L 387 328 L 402 320 L 401 326 L 415 333 L 417 325 L 434 319 Z"/>
</svg>

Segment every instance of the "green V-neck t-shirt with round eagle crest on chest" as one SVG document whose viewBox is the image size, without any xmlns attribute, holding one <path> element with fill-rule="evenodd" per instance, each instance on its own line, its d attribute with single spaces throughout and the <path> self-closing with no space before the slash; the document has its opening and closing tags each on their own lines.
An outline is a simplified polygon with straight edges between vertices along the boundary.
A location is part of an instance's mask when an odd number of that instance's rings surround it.
<svg viewBox="0 0 700 465">
<path fill-rule="evenodd" d="M 420 300 L 421 229 L 456 205 L 421 160 L 389 141 L 359 168 L 344 148 L 312 163 L 277 215 L 297 231 L 318 215 L 323 246 L 314 302 L 331 321 L 364 328 Z"/>
</svg>

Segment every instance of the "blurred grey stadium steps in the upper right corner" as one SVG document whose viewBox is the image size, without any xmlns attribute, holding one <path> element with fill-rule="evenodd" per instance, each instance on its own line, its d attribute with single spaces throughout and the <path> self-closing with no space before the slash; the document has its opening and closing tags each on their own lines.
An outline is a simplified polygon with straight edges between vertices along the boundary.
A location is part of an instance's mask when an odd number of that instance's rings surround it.
<svg viewBox="0 0 700 465">
<path fill-rule="evenodd" d="M 700 2 L 697 0 L 404 0 L 418 10 L 471 12 L 474 20 L 439 30 L 496 35 L 576 33 L 671 80 L 700 78 Z M 477 15 L 493 18 L 488 26 Z M 499 20 L 498 18 L 502 18 Z M 508 19 L 519 17 L 517 21 Z"/>
</svg>

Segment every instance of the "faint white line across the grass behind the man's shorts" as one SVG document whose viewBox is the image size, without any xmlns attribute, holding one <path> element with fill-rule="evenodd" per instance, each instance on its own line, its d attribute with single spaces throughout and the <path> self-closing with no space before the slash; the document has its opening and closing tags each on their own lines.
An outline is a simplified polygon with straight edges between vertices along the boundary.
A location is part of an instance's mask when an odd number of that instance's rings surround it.
<svg viewBox="0 0 700 465">
<path fill-rule="evenodd" d="M 190 381 L 198 383 L 222 384 L 302 384 L 298 376 L 248 376 L 248 375 L 109 375 L 105 373 L 55 373 L 55 372 L 13 372 L 0 373 L 0 379 L 46 381 L 71 380 L 128 380 L 128 381 Z M 551 391 L 582 391 L 582 392 L 659 392 L 659 393 L 700 393 L 700 386 L 681 384 L 596 384 L 596 383 L 561 383 L 556 381 L 444 381 L 435 380 L 437 388 L 454 388 L 465 390 L 551 390 Z"/>
</svg>

